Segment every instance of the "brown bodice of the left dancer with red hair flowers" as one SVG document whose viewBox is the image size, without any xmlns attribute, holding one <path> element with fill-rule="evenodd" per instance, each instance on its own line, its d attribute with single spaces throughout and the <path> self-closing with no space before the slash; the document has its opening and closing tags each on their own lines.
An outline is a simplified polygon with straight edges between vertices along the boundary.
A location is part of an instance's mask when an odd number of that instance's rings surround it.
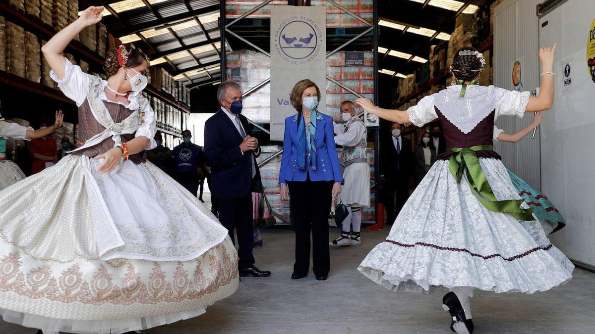
<svg viewBox="0 0 595 334">
<path fill-rule="evenodd" d="M 105 106 L 108 108 L 109 115 L 111 115 L 114 122 L 119 123 L 124 121 L 130 114 L 134 111 L 127 109 L 123 105 L 119 105 L 118 103 L 112 103 L 107 101 L 102 101 Z M 105 130 L 105 127 L 95 119 L 93 116 L 93 112 L 89 106 L 89 101 L 84 100 L 83 104 L 79 107 L 79 140 L 80 141 L 87 141 L 89 138 L 95 136 L 96 134 L 102 133 Z M 126 143 L 129 140 L 134 139 L 134 133 L 132 134 L 122 134 L 120 136 L 122 138 L 122 143 Z M 88 157 L 95 157 L 107 152 L 109 149 L 114 147 L 114 140 L 112 138 L 107 138 L 106 140 L 102 141 L 95 146 L 88 147 L 87 149 L 83 149 L 77 152 L 73 152 L 73 154 L 84 154 Z M 141 162 L 145 162 L 146 160 L 140 156 L 139 154 L 130 155 L 129 160 L 136 164 Z"/>
</svg>

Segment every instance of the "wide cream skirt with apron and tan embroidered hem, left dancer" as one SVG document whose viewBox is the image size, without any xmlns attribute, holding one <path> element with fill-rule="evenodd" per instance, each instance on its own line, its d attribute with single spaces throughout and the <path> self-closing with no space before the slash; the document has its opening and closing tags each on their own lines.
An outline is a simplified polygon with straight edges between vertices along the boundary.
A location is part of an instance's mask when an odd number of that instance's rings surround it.
<svg viewBox="0 0 595 334">
<path fill-rule="evenodd" d="M 198 316 L 237 289 L 237 253 L 195 196 L 151 163 L 70 155 L 0 191 L 0 314 L 75 333 Z"/>
</svg>

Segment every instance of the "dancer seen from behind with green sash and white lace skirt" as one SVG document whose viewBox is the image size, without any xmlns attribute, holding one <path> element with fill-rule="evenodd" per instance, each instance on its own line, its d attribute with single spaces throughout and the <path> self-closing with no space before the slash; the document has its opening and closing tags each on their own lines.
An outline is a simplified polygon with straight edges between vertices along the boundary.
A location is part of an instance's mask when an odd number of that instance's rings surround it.
<svg viewBox="0 0 595 334">
<path fill-rule="evenodd" d="M 394 122 L 422 127 L 440 121 L 449 149 L 409 197 L 387 240 L 359 270 L 393 291 L 450 288 L 443 304 L 457 333 L 473 330 L 473 289 L 533 293 L 572 278 L 571 261 L 547 239 L 491 146 L 494 117 L 551 108 L 554 51 L 555 46 L 540 50 L 544 73 L 538 97 L 474 85 L 484 59 L 477 50 L 464 48 L 453 61 L 458 84 L 424 97 L 408 111 L 356 101 Z"/>
</svg>

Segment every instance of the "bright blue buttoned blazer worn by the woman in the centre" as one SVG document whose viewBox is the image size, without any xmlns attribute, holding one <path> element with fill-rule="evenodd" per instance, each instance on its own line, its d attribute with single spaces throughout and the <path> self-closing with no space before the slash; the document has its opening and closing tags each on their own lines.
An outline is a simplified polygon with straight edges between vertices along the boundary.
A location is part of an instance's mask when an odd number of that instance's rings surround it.
<svg viewBox="0 0 595 334">
<path fill-rule="evenodd" d="M 315 136 L 318 161 L 316 162 L 315 171 L 312 171 L 309 165 L 310 156 L 306 156 L 306 159 L 308 159 L 306 171 L 302 171 L 297 167 L 297 118 L 296 114 L 285 119 L 279 183 L 306 181 L 307 172 L 311 181 L 335 181 L 343 184 L 341 164 L 335 149 L 333 118 L 317 111 Z"/>
</svg>

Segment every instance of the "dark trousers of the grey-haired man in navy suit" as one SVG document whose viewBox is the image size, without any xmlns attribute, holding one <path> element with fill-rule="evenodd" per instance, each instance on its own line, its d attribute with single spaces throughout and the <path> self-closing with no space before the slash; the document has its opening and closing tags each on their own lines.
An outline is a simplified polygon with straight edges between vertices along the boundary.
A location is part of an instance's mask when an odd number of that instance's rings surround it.
<svg viewBox="0 0 595 334">
<path fill-rule="evenodd" d="M 246 269 L 254 264 L 252 247 L 254 245 L 254 235 L 252 226 L 252 194 L 236 198 L 217 198 L 219 210 L 219 221 L 227 231 L 231 241 L 235 245 L 233 229 L 237 230 L 237 243 L 239 250 L 237 254 L 239 269 Z"/>
</svg>

